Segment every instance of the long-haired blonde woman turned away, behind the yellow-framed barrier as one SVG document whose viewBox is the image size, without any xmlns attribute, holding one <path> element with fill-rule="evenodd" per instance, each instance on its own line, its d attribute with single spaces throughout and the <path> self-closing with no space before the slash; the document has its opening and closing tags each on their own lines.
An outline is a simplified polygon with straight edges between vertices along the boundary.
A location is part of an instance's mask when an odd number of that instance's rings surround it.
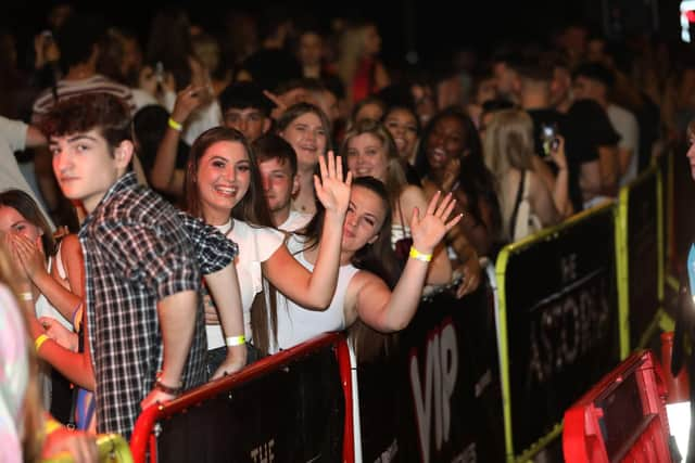
<svg viewBox="0 0 695 463">
<path fill-rule="evenodd" d="M 557 166 L 557 176 L 551 185 L 542 180 L 539 170 L 543 163 L 534 154 L 533 120 L 521 110 L 504 110 L 495 114 L 488 126 L 483 140 L 483 153 L 488 168 L 492 171 L 502 210 L 505 239 L 517 241 L 532 233 L 533 227 L 520 223 L 520 216 L 536 220 L 536 228 L 547 227 L 563 220 L 568 209 L 568 173 L 565 158 L 565 142 L 557 138 L 551 150 L 549 160 Z M 525 207 L 528 210 L 525 213 Z"/>
</svg>

